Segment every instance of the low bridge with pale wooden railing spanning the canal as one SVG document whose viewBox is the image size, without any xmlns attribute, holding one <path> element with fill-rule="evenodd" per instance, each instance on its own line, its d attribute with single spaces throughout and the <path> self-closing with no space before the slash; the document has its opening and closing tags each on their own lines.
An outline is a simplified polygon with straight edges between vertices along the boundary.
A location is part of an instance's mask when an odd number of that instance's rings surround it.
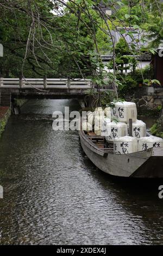
<svg viewBox="0 0 163 256">
<path fill-rule="evenodd" d="M 0 105 L 11 106 L 15 97 L 82 99 L 91 89 L 91 80 L 66 78 L 0 78 Z"/>
</svg>

